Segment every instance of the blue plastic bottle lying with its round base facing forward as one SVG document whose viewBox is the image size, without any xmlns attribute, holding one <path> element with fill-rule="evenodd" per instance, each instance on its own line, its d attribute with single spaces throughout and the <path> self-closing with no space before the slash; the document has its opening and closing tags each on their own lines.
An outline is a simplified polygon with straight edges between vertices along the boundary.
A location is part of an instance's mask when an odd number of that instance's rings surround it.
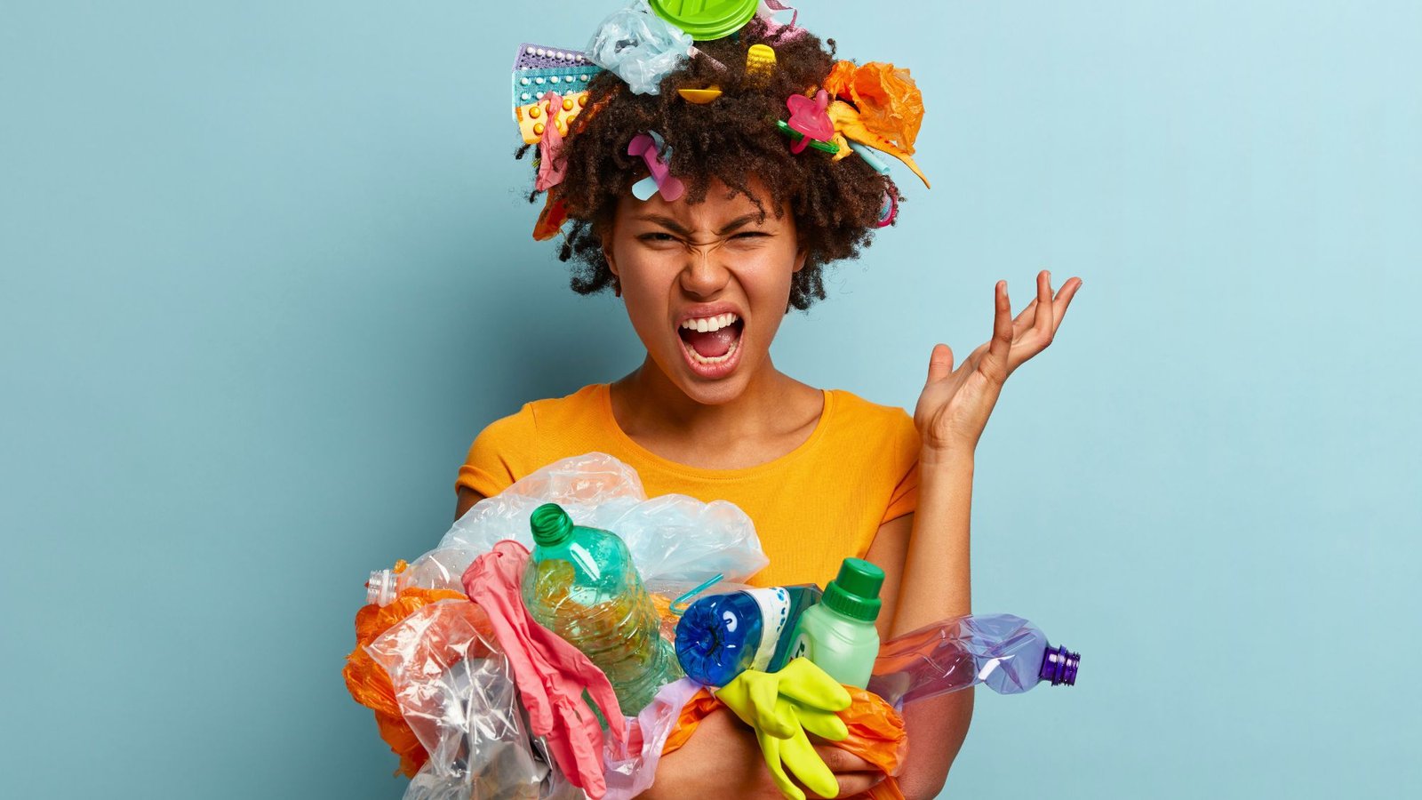
<svg viewBox="0 0 1422 800">
<path fill-rule="evenodd" d="M 789 660 L 801 614 L 819 598 L 813 584 L 700 598 L 677 622 L 677 660 L 707 686 L 725 686 L 747 669 L 776 672 Z"/>
</svg>

